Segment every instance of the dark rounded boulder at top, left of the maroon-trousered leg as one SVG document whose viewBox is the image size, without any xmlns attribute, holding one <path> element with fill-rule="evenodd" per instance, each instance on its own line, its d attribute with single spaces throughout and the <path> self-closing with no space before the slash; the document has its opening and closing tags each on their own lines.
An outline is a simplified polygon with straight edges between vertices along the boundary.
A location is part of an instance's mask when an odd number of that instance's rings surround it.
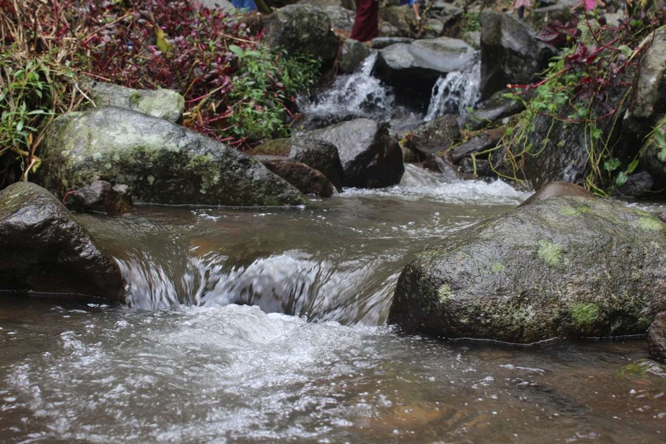
<svg viewBox="0 0 666 444">
<path fill-rule="evenodd" d="M 338 37 L 331 31 L 331 20 L 321 9 L 310 5 L 287 5 L 262 16 L 265 28 L 262 42 L 289 53 L 319 57 L 324 65 L 338 55 Z"/>
</svg>

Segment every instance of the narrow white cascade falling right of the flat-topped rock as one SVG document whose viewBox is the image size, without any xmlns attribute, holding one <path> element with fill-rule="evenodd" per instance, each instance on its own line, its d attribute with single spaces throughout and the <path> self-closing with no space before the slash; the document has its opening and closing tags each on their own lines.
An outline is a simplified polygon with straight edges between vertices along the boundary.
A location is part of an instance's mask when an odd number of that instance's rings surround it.
<svg viewBox="0 0 666 444">
<path fill-rule="evenodd" d="M 424 120 L 429 122 L 442 114 L 466 114 L 468 107 L 474 107 L 480 99 L 480 83 L 481 63 L 478 60 L 469 69 L 440 77 L 432 87 Z"/>
</svg>

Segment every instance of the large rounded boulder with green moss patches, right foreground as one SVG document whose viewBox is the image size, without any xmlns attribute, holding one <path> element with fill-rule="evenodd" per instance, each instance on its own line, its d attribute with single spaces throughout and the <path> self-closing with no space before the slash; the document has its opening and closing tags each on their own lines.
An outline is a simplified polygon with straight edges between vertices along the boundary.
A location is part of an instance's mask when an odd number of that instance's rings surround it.
<svg viewBox="0 0 666 444">
<path fill-rule="evenodd" d="M 531 343 L 645 333 L 666 309 L 666 224 L 602 199 L 517 208 L 420 252 L 389 323 L 408 332 Z"/>
</svg>

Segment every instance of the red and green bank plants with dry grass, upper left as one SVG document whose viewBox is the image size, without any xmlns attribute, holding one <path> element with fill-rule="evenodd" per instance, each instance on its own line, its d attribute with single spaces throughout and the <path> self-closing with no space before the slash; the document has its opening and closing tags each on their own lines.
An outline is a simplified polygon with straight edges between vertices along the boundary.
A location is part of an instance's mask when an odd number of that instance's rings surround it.
<svg viewBox="0 0 666 444">
<path fill-rule="evenodd" d="M 55 116 L 92 81 L 174 89 L 184 126 L 232 146 L 285 136 L 316 60 L 270 50 L 241 15 L 189 1 L 0 0 L 0 188 L 39 168 Z"/>
</svg>

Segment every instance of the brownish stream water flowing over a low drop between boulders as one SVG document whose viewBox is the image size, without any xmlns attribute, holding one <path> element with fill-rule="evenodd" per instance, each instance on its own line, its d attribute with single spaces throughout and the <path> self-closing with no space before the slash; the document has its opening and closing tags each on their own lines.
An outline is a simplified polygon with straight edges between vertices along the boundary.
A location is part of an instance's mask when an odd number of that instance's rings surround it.
<svg viewBox="0 0 666 444">
<path fill-rule="evenodd" d="M 131 307 L 2 299 L 0 441 L 663 441 L 666 375 L 621 371 L 643 339 L 515 347 L 385 325 L 410 257 L 525 196 L 408 166 L 400 186 L 314 208 L 82 216 Z"/>
</svg>

